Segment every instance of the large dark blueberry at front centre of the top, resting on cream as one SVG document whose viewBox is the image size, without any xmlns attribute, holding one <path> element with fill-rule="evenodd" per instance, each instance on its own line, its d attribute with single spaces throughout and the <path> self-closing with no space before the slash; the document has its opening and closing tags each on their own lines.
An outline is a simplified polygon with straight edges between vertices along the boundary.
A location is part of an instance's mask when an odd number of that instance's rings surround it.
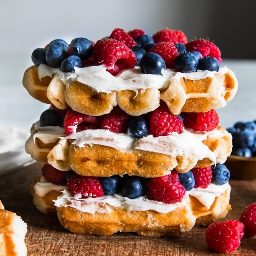
<svg viewBox="0 0 256 256">
<path fill-rule="evenodd" d="M 140 62 L 141 71 L 145 74 L 160 74 L 162 69 L 166 69 L 165 62 L 162 57 L 155 53 L 145 54 Z"/>
</svg>

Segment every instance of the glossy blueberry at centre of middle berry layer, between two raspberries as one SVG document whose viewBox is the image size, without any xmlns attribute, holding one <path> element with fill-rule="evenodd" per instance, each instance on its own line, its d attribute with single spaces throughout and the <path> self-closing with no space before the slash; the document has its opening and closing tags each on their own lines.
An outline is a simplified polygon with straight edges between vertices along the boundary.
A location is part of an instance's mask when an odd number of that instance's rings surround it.
<svg viewBox="0 0 256 256">
<path fill-rule="evenodd" d="M 131 116 L 128 124 L 128 135 L 134 138 L 141 138 L 148 134 L 148 127 L 145 118 L 140 116 Z"/>
</svg>

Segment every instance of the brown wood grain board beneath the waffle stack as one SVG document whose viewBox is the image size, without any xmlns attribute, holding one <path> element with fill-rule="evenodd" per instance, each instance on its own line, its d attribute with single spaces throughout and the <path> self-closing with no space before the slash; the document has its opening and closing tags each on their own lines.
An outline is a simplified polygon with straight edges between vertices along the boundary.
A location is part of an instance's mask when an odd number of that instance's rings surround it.
<svg viewBox="0 0 256 256">
<path fill-rule="evenodd" d="M 76 235 L 62 228 L 56 216 L 40 213 L 32 203 L 29 186 L 40 172 L 35 163 L 14 173 L 0 176 L 0 200 L 7 210 L 16 212 L 27 222 L 28 256 L 194 256 L 222 255 L 205 243 L 205 227 L 194 227 L 176 237 L 142 237 L 118 233 L 109 237 Z M 243 209 L 256 202 L 256 180 L 231 180 L 232 210 L 227 219 L 237 219 Z M 224 255 L 224 254 L 223 254 Z M 256 255 L 256 238 L 244 237 L 232 256 Z"/>
</svg>

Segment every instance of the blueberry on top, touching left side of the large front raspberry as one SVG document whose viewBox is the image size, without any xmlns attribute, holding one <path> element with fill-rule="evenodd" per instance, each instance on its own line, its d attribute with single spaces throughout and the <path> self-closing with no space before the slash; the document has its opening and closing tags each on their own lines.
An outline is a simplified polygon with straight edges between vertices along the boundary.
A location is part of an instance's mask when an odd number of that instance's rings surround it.
<svg viewBox="0 0 256 256">
<path fill-rule="evenodd" d="M 71 44 L 72 53 L 86 60 L 91 57 L 93 53 L 93 45 L 90 40 L 84 37 L 76 38 Z"/>
</svg>

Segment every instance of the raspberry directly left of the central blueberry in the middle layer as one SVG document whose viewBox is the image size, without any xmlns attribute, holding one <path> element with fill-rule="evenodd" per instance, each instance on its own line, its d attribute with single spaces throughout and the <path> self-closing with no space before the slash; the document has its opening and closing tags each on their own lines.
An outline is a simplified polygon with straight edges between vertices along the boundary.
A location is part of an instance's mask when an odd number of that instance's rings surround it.
<svg viewBox="0 0 256 256">
<path fill-rule="evenodd" d="M 115 107 L 113 110 L 104 115 L 101 120 L 101 129 L 108 129 L 113 133 L 127 133 L 129 115 L 121 108 Z"/>
</svg>

